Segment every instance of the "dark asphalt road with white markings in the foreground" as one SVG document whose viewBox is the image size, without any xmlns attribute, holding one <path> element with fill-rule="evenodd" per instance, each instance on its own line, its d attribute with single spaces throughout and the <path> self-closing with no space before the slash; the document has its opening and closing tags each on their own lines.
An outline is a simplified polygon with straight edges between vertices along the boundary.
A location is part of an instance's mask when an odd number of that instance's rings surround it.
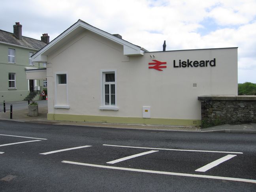
<svg viewBox="0 0 256 192">
<path fill-rule="evenodd" d="M 0 121 L 0 161 L 8 192 L 256 191 L 256 134 Z"/>
</svg>

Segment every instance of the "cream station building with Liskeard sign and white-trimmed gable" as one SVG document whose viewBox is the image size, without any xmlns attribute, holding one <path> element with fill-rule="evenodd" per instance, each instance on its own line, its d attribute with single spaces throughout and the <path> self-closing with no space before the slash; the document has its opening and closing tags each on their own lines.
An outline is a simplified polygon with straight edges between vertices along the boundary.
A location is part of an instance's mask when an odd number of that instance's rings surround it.
<svg viewBox="0 0 256 192">
<path fill-rule="evenodd" d="M 149 52 L 78 20 L 32 56 L 49 120 L 200 125 L 201 95 L 237 95 L 237 47 Z"/>
</svg>

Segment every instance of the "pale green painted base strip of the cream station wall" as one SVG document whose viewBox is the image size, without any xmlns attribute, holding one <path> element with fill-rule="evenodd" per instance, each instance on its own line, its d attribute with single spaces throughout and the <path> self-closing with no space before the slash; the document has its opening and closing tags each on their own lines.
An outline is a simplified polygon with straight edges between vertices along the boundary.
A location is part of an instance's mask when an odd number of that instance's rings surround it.
<svg viewBox="0 0 256 192">
<path fill-rule="evenodd" d="M 200 126 L 201 120 L 191 119 L 146 119 L 138 117 L 107 117 L 92 115 L 68 115 L 68 114 L 47 114 L 48 120 L 66 120 L 83 122 L 103 122 L 122 124 L 149 124 L 149 125 L 177 125 L 177 126 Z"/>
</svg>

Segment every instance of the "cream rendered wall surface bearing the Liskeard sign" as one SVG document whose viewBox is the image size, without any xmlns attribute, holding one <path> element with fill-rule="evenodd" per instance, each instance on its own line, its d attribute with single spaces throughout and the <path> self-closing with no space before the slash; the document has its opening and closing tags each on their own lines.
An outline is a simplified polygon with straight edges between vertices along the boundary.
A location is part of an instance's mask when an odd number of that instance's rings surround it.
<svg viewBox="0 0 256 192">
<path fill-rule="evenodd" d="M 150 57 L 154 55 L 154 57 Z M 181 60 L 213 60 L 215 67 L 173 68 Z M 148 68 L 152 59 L 167 68 Z M 117 70 L 118 111 L 100 110 L 100 70 Z M 55 74 L 68 72 L 70 109 L 54 108 Z M 151 118 L 201 119 L 198 96 L 237 95 L 237 48 L 166 51 L 124 56 L 121 45 L 91 32 L 82 32 L 48 55 L 48 113 L 142 117 L 151 106 Z M 193 87 L 197 83 L 198 87 Z M 51 91 L 50 91 L 51 90 Z"/>
</svg>

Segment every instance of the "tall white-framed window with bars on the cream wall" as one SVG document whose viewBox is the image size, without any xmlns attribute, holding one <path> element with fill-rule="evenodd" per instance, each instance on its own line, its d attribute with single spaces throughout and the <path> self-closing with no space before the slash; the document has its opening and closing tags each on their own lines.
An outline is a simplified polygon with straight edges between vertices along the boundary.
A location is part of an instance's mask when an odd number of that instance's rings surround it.
<svg viewBox="0 0 256 192">
<path fill-rule="evenodd" d="M 118 110 L 117 107 L 117 70 L 101 70 L 100 109 Z"/>
</svg>

